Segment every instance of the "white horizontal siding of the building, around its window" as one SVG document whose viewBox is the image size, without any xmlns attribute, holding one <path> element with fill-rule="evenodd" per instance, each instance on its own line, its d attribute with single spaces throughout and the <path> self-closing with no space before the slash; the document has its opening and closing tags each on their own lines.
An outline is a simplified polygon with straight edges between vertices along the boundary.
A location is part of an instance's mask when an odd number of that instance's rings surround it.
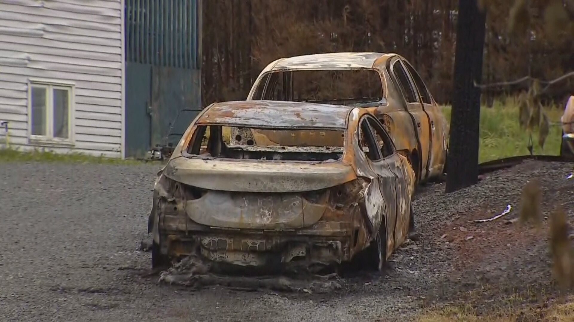
<svg viewBox="0 0 574 322">
<path fill-rule="evenodd" d="M 0 0 L 0 121 L 10 122 L 10 146 L 123 155 L 122 6 L 123 0 Z M 73 146 L 30 144 L 30 78 L 75 84 Z"/>
</svg>

